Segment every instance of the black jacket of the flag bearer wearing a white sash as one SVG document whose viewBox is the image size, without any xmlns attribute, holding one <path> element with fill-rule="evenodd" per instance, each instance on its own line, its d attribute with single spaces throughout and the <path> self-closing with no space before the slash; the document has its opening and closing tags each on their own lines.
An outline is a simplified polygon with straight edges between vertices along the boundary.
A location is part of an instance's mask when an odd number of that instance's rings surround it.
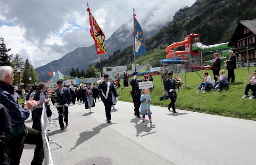
<svg viewBox="0 0 256 165">
<path fill-rule="evenodd" d="M 102 93 L 104 93 L 104 95 L 106 95 L 107 93 L 107 88 L 108 88 L 108 83 L 106 82 L 102 82 L 102 84 L 98 85 L 98 89 L 100 91 L 102 91 L 100 93 L 100 97 L 102 101 L 108 101 L 108 102 L 112 102 L 112 92 L 114 94 L 115 97 L 118 97 L 117 95 L 117 90 L 115 89 L 113 83 L 109 82 L 109 92 L 108 92 L 108 97 L 107 99 L 102 95 Z"/>
</svg>

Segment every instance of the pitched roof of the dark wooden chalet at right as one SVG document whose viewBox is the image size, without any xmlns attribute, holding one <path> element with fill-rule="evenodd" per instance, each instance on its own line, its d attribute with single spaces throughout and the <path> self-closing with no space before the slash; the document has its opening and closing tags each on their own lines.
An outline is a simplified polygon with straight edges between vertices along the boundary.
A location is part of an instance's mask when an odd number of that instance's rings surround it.
<svg viewBox="0 0 256 165">
<path fill-rule="evenodd" d="M 239 38 L 239 33 L 243 33 L 243 27 L 248 28 L 252 33 L 256 34 L 256 19 L 240 20 L 234 34 L 230 38 L 228 46 L 236 46 L 236 40 Z"/>
</svg>

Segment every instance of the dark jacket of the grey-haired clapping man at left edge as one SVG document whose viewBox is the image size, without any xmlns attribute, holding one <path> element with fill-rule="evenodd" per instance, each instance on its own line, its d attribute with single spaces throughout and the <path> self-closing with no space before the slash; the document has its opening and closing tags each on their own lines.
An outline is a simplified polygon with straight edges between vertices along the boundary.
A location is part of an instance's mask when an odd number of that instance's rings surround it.
<svg viewBox="0 0 256 165">
<path fill-rule="evenodd" d="M 27 130 L 24 121 L 28 119 L 30 111 L 26 108 L 19 108 L 11 92 L 14 87 L 0 81 L 0 104 L 3 104 L 9 111 L 12 122 L 13 136 L 26 136 Z M 21 106 L 21 105 L 20 105 Z"/>
</svg>

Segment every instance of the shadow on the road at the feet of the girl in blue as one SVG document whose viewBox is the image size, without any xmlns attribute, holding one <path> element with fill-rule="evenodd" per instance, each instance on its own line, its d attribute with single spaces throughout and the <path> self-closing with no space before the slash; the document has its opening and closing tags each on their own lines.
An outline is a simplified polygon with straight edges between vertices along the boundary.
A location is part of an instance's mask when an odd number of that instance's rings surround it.
<svg viewBox="0 0 256 165">
<path fill-rule="evenodd" d="M 148 127 L 148 126 L 143 126 L 142 125 L 142 121 L 139 122 L 140 120 L 142 120 L 141 118 L 138 118 L 138 117 L 135 117 L 134 119 L 131 119 L 130 122 L 134 122 L 135 124 L 135 128 L 136 128 L 136 136 L 137 137 L 143 137 L 143 136 L 146 136 L 146 135 L 150 135 L 152 133 L 156 133 L 156 131 L 154 132 L 151 132 L 151 130 L 154 128 L 154 127 Z M 145 121 L 147 123 L 147 125 L 149 125 L 149 122 L 148 121 Z M 140 135 L 142 132 L 146 132 L 146 134 L 144 135 Z"/>
</svg>

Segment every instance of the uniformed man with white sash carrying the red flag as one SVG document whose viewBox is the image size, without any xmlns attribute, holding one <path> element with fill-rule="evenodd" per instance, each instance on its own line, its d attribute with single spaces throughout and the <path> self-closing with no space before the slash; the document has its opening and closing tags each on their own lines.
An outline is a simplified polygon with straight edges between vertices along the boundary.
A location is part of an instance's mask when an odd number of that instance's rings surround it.
<svg viewBox="0 0 256 165">
<path fill-rule="evenodd" d="M 108 81 L 108 74 L 105 74 L 103 76 L 103 78 L 98 81 L 97 83 L 98 85 L 98 89 L 101 91 L 101 100 L 104 103 L 105 106 L 105 111 L 106 111 L 106 117 L 107 117 L 107 121 L 108 123 L 110 123 L 111 121 L 111 107 L 113 105 L 113 101 L 112 101 L 112 92 L 115 95 L 115 99 L 116 101 L 118 100 L 118 95 L 117 95 L 117 91 L 115 90 L 115 87 L 113 85 L 113 83 L 110 83 Z"/>
</svg>

